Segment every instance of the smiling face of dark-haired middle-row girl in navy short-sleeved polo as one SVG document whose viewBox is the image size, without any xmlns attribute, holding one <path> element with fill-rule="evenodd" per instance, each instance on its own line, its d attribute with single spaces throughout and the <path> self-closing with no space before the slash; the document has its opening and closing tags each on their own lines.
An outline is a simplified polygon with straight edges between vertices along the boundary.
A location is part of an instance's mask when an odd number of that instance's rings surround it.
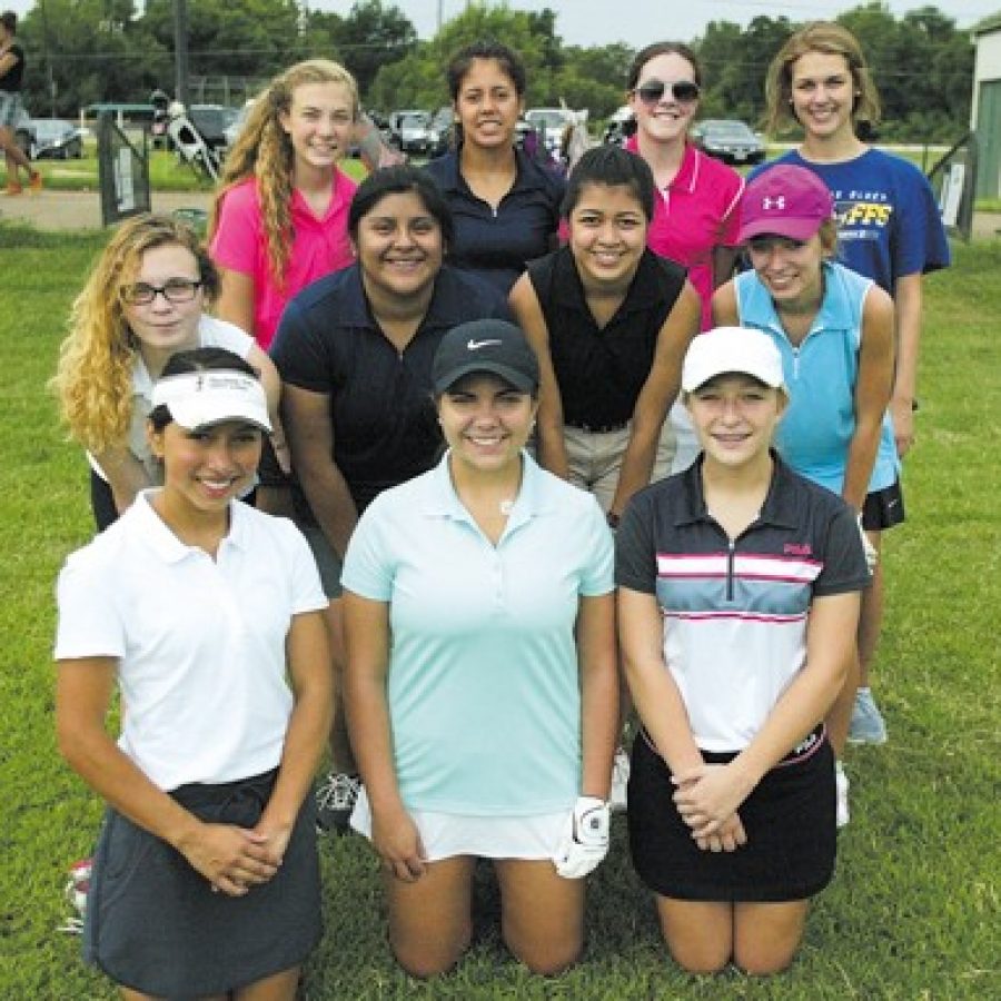
<svg viewBox="0 0 1001 1001">
<path fill-rule="evenodd" d="M 373 300 L 430 294 L 445 241 L 438 220 L 415 191 L 386 195 L 358 221 L 355 254 Z"/>
</svg>

